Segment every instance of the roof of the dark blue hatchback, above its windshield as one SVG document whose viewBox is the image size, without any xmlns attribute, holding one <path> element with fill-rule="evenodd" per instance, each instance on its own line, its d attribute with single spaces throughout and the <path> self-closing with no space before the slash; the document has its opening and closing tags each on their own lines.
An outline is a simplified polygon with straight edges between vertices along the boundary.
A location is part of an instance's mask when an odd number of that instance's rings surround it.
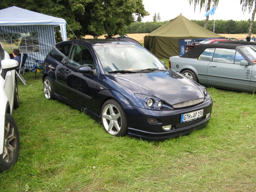
<svg viewBox="0 0 256 192">
<path fill-rule="evenodd" d="M 102 45 L 102 44 L 133 44 L 135 43 L 131 41 L 125 41 L 122 39 L 115 39 L 115 38 L 109 38 L 109 39 L 74 39 L 74 40 L 69 40 L 69 41 L 63 41 L 60 43 L 57 43 L 56 45 L 61 45 L 61 44 L 67 44 L 67 43 L 87 43 L 93 45 Z"/>
</svg>

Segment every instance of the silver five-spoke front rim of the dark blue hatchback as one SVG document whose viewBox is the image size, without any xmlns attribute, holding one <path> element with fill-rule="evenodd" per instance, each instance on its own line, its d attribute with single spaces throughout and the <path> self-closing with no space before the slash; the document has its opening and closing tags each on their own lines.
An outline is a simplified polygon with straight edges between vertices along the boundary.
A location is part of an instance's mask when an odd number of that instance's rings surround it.
<svg viewBox="0 0 256 192">
<path fill-rule="evenodd" d="M 121 114 L 116 106 L 107 104 L 102 110 L 102 124 L 111 135 L 116 135 L 121 130 Z"/>
</svg>

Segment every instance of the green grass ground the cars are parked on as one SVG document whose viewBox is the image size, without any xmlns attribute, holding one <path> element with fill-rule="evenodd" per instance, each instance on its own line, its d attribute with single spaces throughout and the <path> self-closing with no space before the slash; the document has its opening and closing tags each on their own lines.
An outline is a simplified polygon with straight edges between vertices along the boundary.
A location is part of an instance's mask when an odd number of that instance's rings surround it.
<svg viewBox="0 0 256 192">
<path fill-rule="evenodd" d="M 210 123 L 188 136 L 145 141 L 107 134 L 57 100 L 42 79 L 18 79 L 18 162 L 0 174 L 3 192 L 255 192 L 256 95 L 208 88 Z"/>
</svg>

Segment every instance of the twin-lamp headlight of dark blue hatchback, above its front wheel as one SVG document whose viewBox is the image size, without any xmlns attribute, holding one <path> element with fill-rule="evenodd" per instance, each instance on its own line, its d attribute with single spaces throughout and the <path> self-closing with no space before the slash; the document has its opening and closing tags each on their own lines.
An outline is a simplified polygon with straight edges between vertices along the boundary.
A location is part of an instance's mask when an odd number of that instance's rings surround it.
<svg viewBox="0 0 256 192">
<path fill-rule="evenodd" d="M 153 110 L 169 110 L 173 109 L 172 106 L 165 101 L 153 97 L 151 95 L 135 93 L 135 96 L 142 102 L 146 109 L 153 109 Z"/>
</svg>

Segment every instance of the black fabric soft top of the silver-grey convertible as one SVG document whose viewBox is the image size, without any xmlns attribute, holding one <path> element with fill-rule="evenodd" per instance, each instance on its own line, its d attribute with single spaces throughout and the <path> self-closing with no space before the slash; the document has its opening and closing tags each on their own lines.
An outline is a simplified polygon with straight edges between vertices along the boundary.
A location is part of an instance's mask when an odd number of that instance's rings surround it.
<svg viewBox="0 0 256 192">
<path fill-rule="evenodd" d="M 236 49 L 239 46 L 246 46 L 242 44 L 233 44 L 233 43 L 216 43 L 216 44 L 199 44 L 194 46 L 191 50 L 188 52 L 184 53 L 180 57 L 185 57 L 185 58 L 194 58 L 196 59 L 197 57 L 200 56 L 200 54 L 206 49 L 206 48 L 223 48 L 223 49 Z M 249 46 L 249 45 L 247 45 Z"/>
</svg>

